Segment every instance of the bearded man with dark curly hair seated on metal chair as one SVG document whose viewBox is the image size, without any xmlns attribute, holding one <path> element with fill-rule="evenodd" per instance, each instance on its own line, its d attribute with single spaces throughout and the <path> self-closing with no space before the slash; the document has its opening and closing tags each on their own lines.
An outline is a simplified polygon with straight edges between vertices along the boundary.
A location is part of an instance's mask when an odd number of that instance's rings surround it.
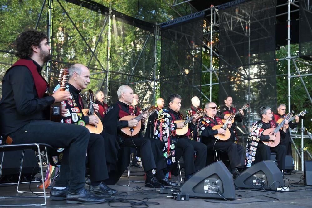
<svg viewBox="0 0 312 208">
<path fill-rule="evenodd" d="M 90 193 L 85 186 L 85 153 L 90 133 L 79 125 L 46 120 L 45 109 L 50 105 L 70 99 L 70 92 L 57 90 L 46 96 L 49 88 L 41 76 L 42 65 L 51 59 L 46 35 L 29 30 L 16 39 L 16 56 L 2 80 L 0 118 L 2 136 L 7 143 L 46 143 L 52 147 L 68 149 L 70 170 L 67 203 L 95 204 L 105 201 L 103 196 Z M 65 113 L 65 110 L 62 110 Z"/>
</svg>

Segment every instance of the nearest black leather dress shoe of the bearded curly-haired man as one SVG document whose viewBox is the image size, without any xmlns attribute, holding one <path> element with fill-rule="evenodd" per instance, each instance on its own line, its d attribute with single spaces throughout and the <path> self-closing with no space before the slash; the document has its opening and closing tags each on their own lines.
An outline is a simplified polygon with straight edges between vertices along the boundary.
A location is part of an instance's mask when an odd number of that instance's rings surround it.
<svg viewBox="0 0 312 208">
<path fill-rule="evenodd" d="M 82 188 L 78 193 L 67 192 L 66 203 L 68 204 L 100 204 L 105 199 L 102 196 L 92 194 L 89 190 Z"/>
</svg>

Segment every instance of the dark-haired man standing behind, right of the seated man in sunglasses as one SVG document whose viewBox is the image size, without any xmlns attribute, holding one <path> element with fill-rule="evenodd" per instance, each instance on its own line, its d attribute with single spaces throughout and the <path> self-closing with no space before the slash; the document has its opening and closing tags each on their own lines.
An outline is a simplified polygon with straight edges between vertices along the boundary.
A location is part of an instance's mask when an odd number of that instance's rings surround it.
<svg viewBox="0 0 312 208">
<path fill-rule="evenodd" d="M 236 113 L 237 109 L 232 107 L 232 103 L 233 103 L 233 99 L 231 96 L 227 96 L 225 99 L 224 99 L 224 104 L 223 106 L 220 107 L 220 112 L 221 112 L 221 115 L 219 116 L 221 119 L 227 119 L 227 116 L 225 116 L 225 114 L 230 114 L 230 113 Z M 235 121 L 234 123 L 232 123 L 232 131 L 233 131 L 233 135 L 231 137 L 232 141 L 234 143 L 238 143 L 238 136 L 237 136 L 237 132 L 236 132 L 236 121 L 237 122 L 242 122 L 242 118 L 244 116 L 244 111 L 243 109 L 238 109 L 238 111 L 240 112 L 239 114 L 237 114 L 235 116 Z"/>
</svg>

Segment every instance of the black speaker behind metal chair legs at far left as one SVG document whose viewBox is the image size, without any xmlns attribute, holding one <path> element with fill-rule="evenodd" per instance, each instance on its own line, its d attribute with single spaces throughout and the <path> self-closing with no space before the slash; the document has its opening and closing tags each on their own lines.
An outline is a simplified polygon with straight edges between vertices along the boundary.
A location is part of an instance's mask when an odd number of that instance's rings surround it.
<svg viewBox="0 0 312 208">
<path fill-rule="evenodd" d="M 2 160 L 2 154 L 3 152 L 0 152 L 0 161 Z M 4 152 L 1 175 L 18 175 L 21 166 L 21 159 L 22 150 Z M 38 172 L 39 165 L 35 152 L 31 149 L 25 150 L 22 174 L 37 174 Z"/>
</svg>

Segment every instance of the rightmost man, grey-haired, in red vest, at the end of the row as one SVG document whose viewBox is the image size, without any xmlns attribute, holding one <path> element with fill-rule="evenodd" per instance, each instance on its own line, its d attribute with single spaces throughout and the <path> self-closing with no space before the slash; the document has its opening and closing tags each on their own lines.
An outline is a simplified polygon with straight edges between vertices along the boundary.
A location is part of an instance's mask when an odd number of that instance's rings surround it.
<svg viewBox="0 0 312 208">
<path fill-rule="evenodd" d="M 284 119 L 285 112 L 286 112 L 286 105 L 280 104 L 277 108 L 277 113 L 273 114 L 274 116 L 273 119 L 275 120 L 275 122 L 278 121 L 278 119 Z M 299 116 L 295 115 L 295 123 L 290 121 L 288 122 L 288 125 L 290 126 L 290 128 L 296 128 L 298 126 L 298 123 L 299 123 Z M 292 155 L 289 128 L 287 128 L 285 138 L 280 140 L 280 144 L 285 146 L 286 155 Z"/>
</svg>

